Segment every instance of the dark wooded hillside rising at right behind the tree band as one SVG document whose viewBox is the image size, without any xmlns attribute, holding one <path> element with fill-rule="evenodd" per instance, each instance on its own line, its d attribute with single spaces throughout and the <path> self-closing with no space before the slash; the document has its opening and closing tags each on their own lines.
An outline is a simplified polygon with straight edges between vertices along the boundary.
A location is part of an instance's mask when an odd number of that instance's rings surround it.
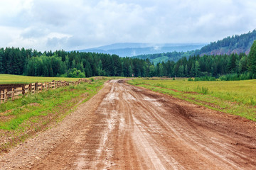
<svg viewBox="0 0 256 170">
<path fill-rule="evenodd" d="M 191 55 L 230 55 L 233 53 L 249 54 L 252 43 L 256 40 L 256 30 L 245 33 L 242 35 L 228 36 L 223 40 L 217 42 L 210 42 L 210 44 L 203 46 L 200 50 L 191 50 L 187 52 L 164 52 L 159 54 L 150 55 L 137 55 L 135 58 L 146 59 L 148 58 L 151 62 L 167 62 L 168 60 L 177 62 L 181 57 L 189 57 Z"/>
</svg>

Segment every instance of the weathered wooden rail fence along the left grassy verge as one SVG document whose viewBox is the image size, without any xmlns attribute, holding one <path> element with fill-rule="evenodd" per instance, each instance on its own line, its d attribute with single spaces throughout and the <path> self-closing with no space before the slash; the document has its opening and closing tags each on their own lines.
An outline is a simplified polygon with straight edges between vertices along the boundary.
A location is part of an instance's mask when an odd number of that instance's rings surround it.
<svg viewBox="0 0 256 170">
<path fill-rule="evenodd" d="M 101 79 L 101 77 L 96 77 L 95 79 Z M 90 82 L 90 79 L 79 79 L 78 81 L 51 81 L 44 83 L 32 83 L 23 84 L 21 87 L 12 88 L 11 90 L 4 89 L 0 91 L 0 103 L 5 103 L 6 101 L 14 101 L 17 98 L 21 98 L 26 94 L 36 94 L 43 90 L 56 89 L 62 86 L 78 85 L 81 82 Z"/>
</svg>

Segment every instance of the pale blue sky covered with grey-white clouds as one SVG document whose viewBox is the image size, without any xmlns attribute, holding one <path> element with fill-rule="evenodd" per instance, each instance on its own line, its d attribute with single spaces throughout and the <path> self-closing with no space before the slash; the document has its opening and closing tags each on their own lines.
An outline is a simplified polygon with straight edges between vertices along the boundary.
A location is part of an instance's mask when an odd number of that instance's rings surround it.
<svg viewBox="0 0 256 170">
<path fill-rule="evenodd" d="M 256 28 L 255 0 L 1 0 L 0 47 L 213 42 Z"/>
</svg>

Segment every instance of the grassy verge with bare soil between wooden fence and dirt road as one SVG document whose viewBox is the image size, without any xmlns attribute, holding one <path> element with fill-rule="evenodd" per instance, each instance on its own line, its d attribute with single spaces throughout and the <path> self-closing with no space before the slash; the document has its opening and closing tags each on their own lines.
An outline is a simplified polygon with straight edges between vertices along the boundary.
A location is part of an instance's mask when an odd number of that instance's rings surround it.
<svg viewBox="0 0 256 170">
<path fill-rule="evenodd" d="M 0 154 L 38 131 L 65 118 L 77 103 L 97 94 L 105 80 L 65 86 L 23 96 L 0 105 Z"/>
</svg>

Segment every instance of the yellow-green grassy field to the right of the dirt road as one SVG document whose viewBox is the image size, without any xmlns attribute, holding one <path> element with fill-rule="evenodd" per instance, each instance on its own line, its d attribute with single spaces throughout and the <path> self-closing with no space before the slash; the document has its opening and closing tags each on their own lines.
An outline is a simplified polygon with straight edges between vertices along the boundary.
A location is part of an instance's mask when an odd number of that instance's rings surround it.
<svg viewBox="0 0 256 170">
<path fill-rule="evenodd" d="M 256 80 L 134 79 L 128 82 L 132 85 L 142 86 L 146 89 L 256 121 Z"/>
</svg>

